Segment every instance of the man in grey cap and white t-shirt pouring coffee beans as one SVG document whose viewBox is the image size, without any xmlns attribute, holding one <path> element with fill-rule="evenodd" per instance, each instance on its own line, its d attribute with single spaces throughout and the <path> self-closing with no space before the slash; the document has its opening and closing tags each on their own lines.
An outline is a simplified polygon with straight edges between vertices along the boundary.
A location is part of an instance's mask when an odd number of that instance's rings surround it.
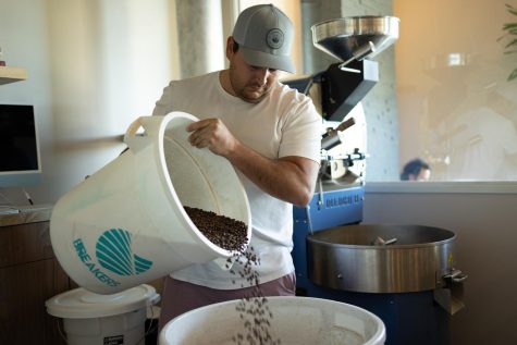
<svg viewBox="0 0 517 345">
<path fill-rule="evenodd" d="M 189 143 L 237 171 L 251 209 L 250 246 L 260 260 L 253 269 L 263 296 L 295 294 L 292 205 L 310 201 L 319 170 L 321 118 L 308 97 L 278 82 L 279 70 L 294 72 L 293 34 L 272 4 L 246 9 L 226 40 L 229 69 L 172 82 L 153 111 L 199 118 L 187 126 Z M 242 268 L 237 262 L 232 270 Z M 165 278 L 160 329 L 180 313 L 255 289 L 212 262 L 173 272 Z"/>
</svg>

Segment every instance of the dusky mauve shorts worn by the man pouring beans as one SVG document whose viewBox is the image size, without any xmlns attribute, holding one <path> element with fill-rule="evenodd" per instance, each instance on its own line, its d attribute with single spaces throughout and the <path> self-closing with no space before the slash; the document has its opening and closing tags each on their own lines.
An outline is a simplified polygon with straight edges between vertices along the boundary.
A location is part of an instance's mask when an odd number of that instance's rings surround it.
<svg viewBox="0 0 517 345">
<path fill-rule="evenodd" d="M 292 272 L 259 286 L 260 293 L 263 296 L 294 296 L 296 294 L 296 275 Z M 255 286 L 236 289 L 217 289 L 167 276 L 162 293 L 158 331 L 161 331 L 167 322 L 179 315 L 220 301 L 253 297 L 256 292 Z"/>
</svg>

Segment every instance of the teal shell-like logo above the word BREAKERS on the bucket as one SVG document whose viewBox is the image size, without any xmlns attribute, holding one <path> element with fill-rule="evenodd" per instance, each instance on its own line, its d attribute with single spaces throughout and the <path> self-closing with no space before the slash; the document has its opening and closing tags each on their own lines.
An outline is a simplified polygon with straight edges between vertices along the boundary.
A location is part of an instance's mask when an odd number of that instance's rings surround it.
<svg viewBox="0 0 517 345">
<path fill-rule="evenodd" d="M 100 235 L 95 254 L 101 267 L 119 275 L 141 274 L 152 267 L 152 261 L 133 254 L 131 233 L 110 229 Z"/>
</svg>

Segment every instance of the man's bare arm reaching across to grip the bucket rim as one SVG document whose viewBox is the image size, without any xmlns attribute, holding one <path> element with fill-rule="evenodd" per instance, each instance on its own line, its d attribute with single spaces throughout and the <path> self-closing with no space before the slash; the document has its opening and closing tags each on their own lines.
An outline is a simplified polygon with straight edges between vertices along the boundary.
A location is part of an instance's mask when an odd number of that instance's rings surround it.
<svg viewBox="0 0 517 345">
<path fill-rule="evenodd" d="M 190 144 L 208 148 L 226 158 L 263 192 L 304 207 L 312 198 L 319 163 L 304 157 L 266 158 L 245 146 L 219 119 L 207 119 L 187 126 Z"/>
</svg>

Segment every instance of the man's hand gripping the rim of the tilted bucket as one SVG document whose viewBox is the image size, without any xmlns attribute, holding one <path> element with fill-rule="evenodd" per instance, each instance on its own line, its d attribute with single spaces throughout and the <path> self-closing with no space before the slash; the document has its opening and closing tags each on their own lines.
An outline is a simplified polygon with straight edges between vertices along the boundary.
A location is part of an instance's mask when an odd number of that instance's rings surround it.
<svg viewBox="0 0 517 345">
<path fill-rule="evenodd" d="M 216 155 L 227 157 L 237 145 L 237 139 L 220 119 L 206 119 L 190 123 L 188 141 L 197 148 L 207 147 Z"/>
</svg>

